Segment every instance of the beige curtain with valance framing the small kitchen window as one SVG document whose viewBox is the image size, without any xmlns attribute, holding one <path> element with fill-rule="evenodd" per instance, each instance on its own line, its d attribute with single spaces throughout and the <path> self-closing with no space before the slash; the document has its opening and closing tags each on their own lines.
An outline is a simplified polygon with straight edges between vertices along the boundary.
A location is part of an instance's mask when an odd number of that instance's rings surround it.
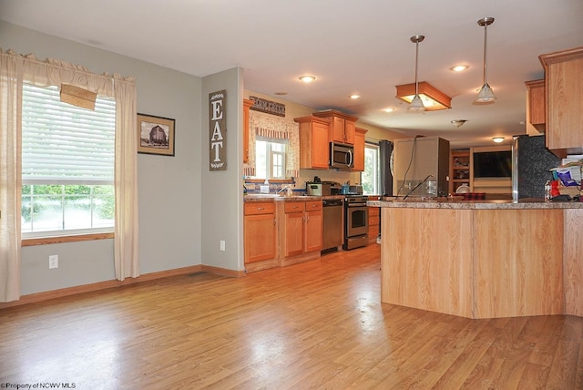
<svg viewBox="0 0 583 390">
<path fill-rule="evenodd" d="M 297 178 L 300 175 L 300 125 L 285 118 L 250 111 L 249 127 L 249 159 L 243 166 L 245 176 L 255 176 L 255 140 L 261 136 L 288 140 L 285 176 Z"/>
</svg>

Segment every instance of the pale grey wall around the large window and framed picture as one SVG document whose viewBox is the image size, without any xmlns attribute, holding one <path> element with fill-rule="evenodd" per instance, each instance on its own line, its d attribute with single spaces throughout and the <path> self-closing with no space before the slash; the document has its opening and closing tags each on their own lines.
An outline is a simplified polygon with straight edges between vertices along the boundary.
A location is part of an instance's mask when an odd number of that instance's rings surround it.
<svg viewBox="0 0 583 390">
<path fill-rule="evenodd" d="M 62 59 L 83 65 L 94 73 L 136 77 L 138 112 L 176 119 L 175 157 L 138 155 L 140 272 L 200 264 L 203 247 L 201 192 L 204 188 L 200 167 L 203 153 L 200 77 L 2 21 L 0 47 L 21 54 L 34 53 L 40 59 Z M 222 183 L 218 185 L 223 186 Z M 236 215 L 235 211 L 232 215 Z M 229 216 L 223 215 L 223 218 Z M 208 226 L 218 221 L 205 223 Z M 50 254 L 59 255 L 56 270 L 48 269 Z M 21 264 L 23 295 L 115 278 L 112 240 L 25 247 Z"/>
</svg>

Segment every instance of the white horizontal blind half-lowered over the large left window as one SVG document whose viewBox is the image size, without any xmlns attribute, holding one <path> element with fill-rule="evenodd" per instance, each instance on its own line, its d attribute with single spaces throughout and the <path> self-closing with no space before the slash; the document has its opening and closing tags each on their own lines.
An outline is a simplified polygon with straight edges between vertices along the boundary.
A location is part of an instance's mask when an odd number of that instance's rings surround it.
<svg viewBox="0 0 583 390">
<path fill-rule="evenodd" d="M 22 107 L 24 184 L 113 184 L 115 99 L 97 97 L 93 111 L 25 83 Z"/>
</svg>

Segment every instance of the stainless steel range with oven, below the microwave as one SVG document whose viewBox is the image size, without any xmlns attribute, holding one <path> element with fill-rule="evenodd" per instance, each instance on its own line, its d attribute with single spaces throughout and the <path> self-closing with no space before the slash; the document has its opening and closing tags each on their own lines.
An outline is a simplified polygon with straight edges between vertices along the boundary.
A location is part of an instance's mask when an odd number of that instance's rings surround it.
<svg viewBox="0 0 583 390">
<path fill-rule="evenodd" d="M 368 197 L 350 194 L 344 198 L 344 243 L 345 251 L 368 244 Z"/>
</svg>

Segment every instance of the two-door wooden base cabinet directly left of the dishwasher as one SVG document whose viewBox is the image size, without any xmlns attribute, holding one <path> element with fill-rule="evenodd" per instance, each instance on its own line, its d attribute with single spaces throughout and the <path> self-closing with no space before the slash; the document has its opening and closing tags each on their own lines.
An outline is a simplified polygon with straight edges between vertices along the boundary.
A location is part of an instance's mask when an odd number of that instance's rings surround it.
<svg viewBox="0 0 583 390">
<path fill-rule="evenodd" d="M 281 218 L 280 265 L 312 260 L 322 249 L 322 200 L 285 201 Z"/>
</svg>

